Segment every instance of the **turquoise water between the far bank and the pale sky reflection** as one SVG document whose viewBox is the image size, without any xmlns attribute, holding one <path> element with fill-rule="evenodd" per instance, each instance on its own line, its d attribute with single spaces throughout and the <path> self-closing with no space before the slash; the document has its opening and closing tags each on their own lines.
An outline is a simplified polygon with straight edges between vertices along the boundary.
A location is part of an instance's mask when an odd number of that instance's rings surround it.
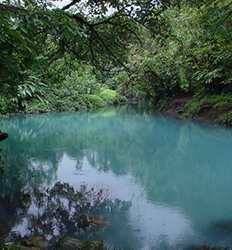
<svg viewBox="0 0 232 250">
<path fill-rule="evenodd" d="M 115 110 L 16 117 L 0 126 L 10 135 L 4 142 L 7 178 L 0 180 L 5 192 L 55 180 L 66 154 L 77 168 L 87 159 L 99 171 L 130 173 L 149 200 L 179 206 L 196 221 L 202 219 L 198 204 L 214 217 L 221 205 L 231 212 L 229 197 L 221 199 L 231 190 L 229 131 Z"/>
</svg>

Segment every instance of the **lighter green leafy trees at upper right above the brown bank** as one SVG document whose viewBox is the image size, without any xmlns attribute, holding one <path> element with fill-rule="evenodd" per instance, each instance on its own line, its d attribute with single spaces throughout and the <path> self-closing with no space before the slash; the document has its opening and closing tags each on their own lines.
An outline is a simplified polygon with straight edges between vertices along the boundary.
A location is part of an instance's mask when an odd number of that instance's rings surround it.
<svg viewBox="0 0 232 250">
<path fill-rule="evenodd" d="M 178 7 L 152 11 L 147 19 L 151 32 L 141 29 L 142 45 L 131 45 L 133 73 L 120 89 L 153 101 L 186 92 L 231 92 L 232 2 L 182 1 Z"/>
</svg>

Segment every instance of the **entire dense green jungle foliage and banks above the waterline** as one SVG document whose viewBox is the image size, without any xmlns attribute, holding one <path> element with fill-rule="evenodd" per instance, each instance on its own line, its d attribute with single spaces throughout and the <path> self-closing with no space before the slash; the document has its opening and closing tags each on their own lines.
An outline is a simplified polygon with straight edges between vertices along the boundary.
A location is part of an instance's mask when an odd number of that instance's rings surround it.
<svg viewBox="0 0 232 250">
<path fill-rule="evenodd" d="M 1 2 L 2 114 L 146 101 L 232 123 L 231 0 L 65 3 Z"/>
</svg>

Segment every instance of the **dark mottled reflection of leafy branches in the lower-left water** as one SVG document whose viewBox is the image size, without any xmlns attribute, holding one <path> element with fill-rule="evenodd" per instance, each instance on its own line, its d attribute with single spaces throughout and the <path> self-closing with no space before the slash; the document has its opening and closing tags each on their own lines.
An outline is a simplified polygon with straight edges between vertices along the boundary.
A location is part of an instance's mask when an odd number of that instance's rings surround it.
<svg viewBox="0 0 232 250">
<path fill-rule="evenodd" d="M 124 216 L 129 203 L 110 200 L 102 190 L 82 186 L 77 191 L 67 183 L 58 182 L 51 189 L 34 189 L 24 194 L 21 205 L 26 209 L 14 227 L 16 233 L 23 224 L 21 237 L 42 236 L 54 244 L 66 235 L 93 238 L 97 230 L 110 227 L 112 213 Z"/>
</svg>

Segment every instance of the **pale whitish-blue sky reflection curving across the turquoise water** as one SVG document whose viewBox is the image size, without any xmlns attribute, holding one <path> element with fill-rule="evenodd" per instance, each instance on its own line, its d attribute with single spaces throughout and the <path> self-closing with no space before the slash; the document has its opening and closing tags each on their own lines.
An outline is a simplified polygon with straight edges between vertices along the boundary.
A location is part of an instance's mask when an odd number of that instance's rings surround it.
<svg viewBox="0 0 232 250">
<path fill-rule="evenodd" d="M 87 183 L 98 189 L 109 190 L 111 199 L 130 201 L 128 222 L 130 230 L 139 242 L 139 247 L 138 242 L 130 242 L 127 247 L 131 249 L 151 249 L 163 244 L 163 241 L 173 247 L 183 240 L 183 237 L 190 238 L 194 235 L 190 222 L 180 209 L 149 201 L 146 190 L 129 174 L 116 175 L 111 170 L 99 171 L 87 158 L 83 159 L 82 168 L 76 169 L 76 161 L 64 155 L 57 176 L 60 180 L 69 181 L 76 188 Z M 123 226 L 124 222 L 121 221 L 115 231 L 121 230 Z M 112 236 L 104 234 L 103 237 L 107 239 L 106 237 Z M 117 240 L 111 244 L 118 245 Z M 123 243 L 120 244 L 121 247 L 125 247 L 126 242 Z"/>
</svg>

